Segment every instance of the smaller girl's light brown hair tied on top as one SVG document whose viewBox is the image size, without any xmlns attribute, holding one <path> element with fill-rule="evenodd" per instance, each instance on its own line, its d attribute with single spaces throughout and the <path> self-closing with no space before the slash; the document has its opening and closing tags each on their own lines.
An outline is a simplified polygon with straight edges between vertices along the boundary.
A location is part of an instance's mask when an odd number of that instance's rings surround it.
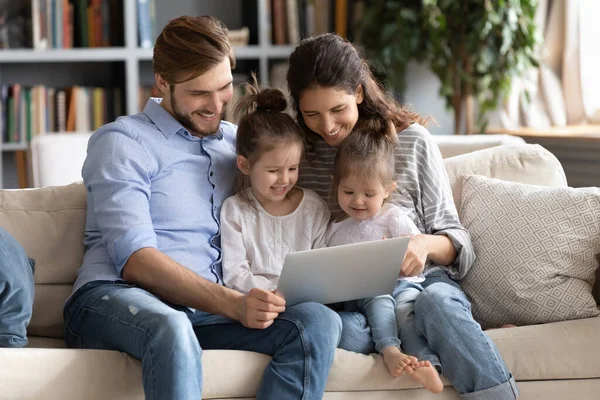
<svg viewBox="0 0 600 400">
<path fill-rule="evenodd" d="M 338 186 L 348 176 L 377 182 L 384 188 L 394 183 L 394 149 L 398 136 L 391 122 L 360 120 L 352 134 L 340 145 L 335 156 L 331 200 L 338 203 Z M 389 197 L 388 197 L 389 200 Z"/>
</svg>

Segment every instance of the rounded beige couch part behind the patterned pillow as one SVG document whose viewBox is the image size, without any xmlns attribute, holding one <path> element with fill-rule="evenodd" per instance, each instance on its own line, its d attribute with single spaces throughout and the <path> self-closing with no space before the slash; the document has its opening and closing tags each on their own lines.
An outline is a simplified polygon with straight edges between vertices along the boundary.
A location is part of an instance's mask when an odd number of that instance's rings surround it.
<svg viewBox="0 0 600 400">
<path fill-rule="evenodd" d="M 463 175 L 484 175 L 518 183 L 567 186 L 557 158 L 537 144 L 515 144 L 450 157 L 444 160 L 454 203 L 460 216 Z"/>
</svg>

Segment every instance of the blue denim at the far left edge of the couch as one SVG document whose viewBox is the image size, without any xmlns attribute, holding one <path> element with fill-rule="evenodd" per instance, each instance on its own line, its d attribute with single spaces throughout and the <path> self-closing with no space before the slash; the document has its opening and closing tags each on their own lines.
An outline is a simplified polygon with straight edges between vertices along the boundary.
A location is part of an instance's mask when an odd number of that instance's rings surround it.
<svg viewBox="0 0 600 400">
<path fill-rule="evenodd" d="M 25 347 L 31 320 L 35 261 L 0 228 L 0 347 Z"/>
</svg>

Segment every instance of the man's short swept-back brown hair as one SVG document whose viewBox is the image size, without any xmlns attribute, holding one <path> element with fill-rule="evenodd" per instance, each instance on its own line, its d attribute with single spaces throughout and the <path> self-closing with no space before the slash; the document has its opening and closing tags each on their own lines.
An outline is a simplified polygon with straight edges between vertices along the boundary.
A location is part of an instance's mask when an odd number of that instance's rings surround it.
<svg viewBox="0 0 600 400">
<path fill-rule="evenodd" d="M 169 84 L 194 79 L 229 58 L 235 58 L 227 27 L 215 17 L 182 16 L 164 27 L 154 45 L 152 69 Z"/>
</svg>

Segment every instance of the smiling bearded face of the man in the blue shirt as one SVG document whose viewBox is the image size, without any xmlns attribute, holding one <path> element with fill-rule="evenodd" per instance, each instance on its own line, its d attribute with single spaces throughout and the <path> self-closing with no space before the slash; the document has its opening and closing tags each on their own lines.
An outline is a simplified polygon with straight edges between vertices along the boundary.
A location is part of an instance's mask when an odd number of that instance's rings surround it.
<svg viewBox="0 0 600 400">
<path fill-rule="evenodd" d="M 161 106 L 192 135 L 209 136 L 219 130 L 225 105 L 233 96 L 228 58 L 189 81 L 170 85 L 157 75 L 156 82 L 164 94 Z"/>
</svg>

